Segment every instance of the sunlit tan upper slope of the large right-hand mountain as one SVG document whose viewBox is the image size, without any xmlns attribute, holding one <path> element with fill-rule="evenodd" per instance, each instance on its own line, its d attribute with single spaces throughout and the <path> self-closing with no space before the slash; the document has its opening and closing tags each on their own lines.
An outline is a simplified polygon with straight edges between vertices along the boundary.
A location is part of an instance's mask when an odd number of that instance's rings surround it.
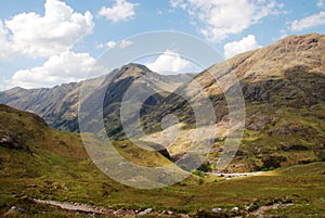
<svg viewBox="0 0 325 218">
<path fill-rule="evenodd" d="M 231 67 L 238 79 L 283 78 L 284 72 L 295 67 L 324 74 L 325 35 L 309 34 L 289 36 L 277 42 L 238 54 L 224 63 L 216 64 L 212 69 L 222 75 L 224 68 Z"/>
</svg>

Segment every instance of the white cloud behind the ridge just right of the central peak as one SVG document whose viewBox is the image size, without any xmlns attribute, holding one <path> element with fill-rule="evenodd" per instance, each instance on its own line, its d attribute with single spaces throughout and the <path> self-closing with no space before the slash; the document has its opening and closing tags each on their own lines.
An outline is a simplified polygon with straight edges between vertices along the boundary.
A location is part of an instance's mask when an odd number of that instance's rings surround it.
<svg viewBox="0 0 325 218">
<path fill-rule="evenodd" d="M 145 64 L 153 72 L 161 74 L 179 73 L 191 67 L 191 62 L 182 59 L 179 53 L 166 50 L 156 61 Z"/>
</svg>

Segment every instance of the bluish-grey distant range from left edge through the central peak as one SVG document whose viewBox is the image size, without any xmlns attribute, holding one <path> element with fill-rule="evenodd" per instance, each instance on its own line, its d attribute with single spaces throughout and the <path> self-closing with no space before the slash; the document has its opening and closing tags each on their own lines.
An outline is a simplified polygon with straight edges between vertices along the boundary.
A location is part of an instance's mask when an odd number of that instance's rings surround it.
<svg viewBox="0 0 325 218">
<path fill-rule="evenodd" d="M 141 81 L 141 77 L 144 77 L 145 79 Z M 118 120 L 117 114 L 119 114 L 117 113 L 118 107 L 116 104 L 121 101 L 123 92 L 128 90 L 128 87 L 134 80 L 138 80 L 138 82 L 140 81 L 139 93 L 146 93 L 161 90 L 173 91 L 184 81 L 187 81 L 188 78 L 191 77 L 186 75 L 164 76 L 150 70 L 143 65 L 129 64 L 115 69 L 103 77 L 82 82 L 64 84 L 62 86 L 43 89 L 13 88 L 0 92 L 0 103 L 36 113 L 52 128 L 78 131 L 77 113 L 82 84 L 99 85 L 96 92 L 107 92 L 104 102 L 104 113 L 107 115 L 107 118 L 115 123 Z M 102 81 L 104 84 L 100 86 L 100 82 Z M 109 88 L 107 88 L 108 84 Z M 91 98 L 94 97 L 92 95 Z M 150 100 L 148 105 L 145 106 L 151 107 L 152 105 L 157 104 L 161 98 L 164 97 L 160 94 L 155 95 Z M 109 132 L 119 128 L 118 123 L 109 123 L 107 126 Z"/>
</svg>

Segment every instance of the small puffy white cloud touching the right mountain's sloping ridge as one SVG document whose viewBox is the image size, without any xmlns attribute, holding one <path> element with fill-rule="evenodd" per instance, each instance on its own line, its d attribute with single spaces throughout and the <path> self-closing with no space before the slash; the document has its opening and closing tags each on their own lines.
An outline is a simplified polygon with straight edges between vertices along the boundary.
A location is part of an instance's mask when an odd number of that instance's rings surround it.
<svg viewBox="0 0 325 218">
<path fill-rule="evenodd" d="M 246 51 L 258 49 L 258 48 L 261 48 L 261 46 L 258 44 L 256 37 L 253 35 L 244 37 L 239 41 L 233 41 L 233 42 L 226 43 L 223 47 L 224 56 L 226 59 L 232 57 L 239 53 L 244 53 Z"/>
</svg>

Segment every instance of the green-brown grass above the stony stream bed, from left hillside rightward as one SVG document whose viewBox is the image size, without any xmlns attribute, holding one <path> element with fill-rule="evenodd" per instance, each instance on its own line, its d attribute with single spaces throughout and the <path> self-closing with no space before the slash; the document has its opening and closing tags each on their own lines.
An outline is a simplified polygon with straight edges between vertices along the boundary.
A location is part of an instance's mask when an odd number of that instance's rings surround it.
<svg viewBox="0 0 325 218">
<path fill-rule="evenodd" d="M 22 196 L 110 205 L 115 208 L 168 208 L 190 214 L 213 207 L 239 206 L 242 210 L 244 205 L 253 202 L 263 205 L 275 198 L 289 197 L 296 201 L 295 205 L 280 213 L 325 213 L 324 163 L 294 166 L 261 177 L 230 181 L 194 176 L 173 187 L 139 190 L 104 176 L 87 158 L 78 134 L 51 130 L 35 115 L 10 107 L 1 106 L 0 116 L 0 128 L 15 131 L 34 152 L 31 156 L 24 151 L 0 148 L 0 214 L 15 205 L 27 209 L 25 217 L 43 217 L 43 211 L 49 217 L 67 215 L 55 207 L 31 204 Z M 129 153 L 133 153 L 132 145 L 123 152 L 119 143 L 115 145 L 126 157 L 139 158 Z"/>
</svg>

